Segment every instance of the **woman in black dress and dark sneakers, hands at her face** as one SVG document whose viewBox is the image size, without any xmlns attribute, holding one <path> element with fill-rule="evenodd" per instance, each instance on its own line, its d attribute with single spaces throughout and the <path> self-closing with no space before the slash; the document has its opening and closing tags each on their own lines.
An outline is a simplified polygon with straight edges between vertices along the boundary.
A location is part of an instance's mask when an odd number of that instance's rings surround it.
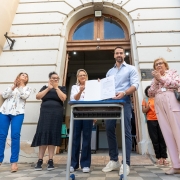
<svg viewBox="0 0 180 180">
<path fill-rule="evenodd" d="M 66 88 L 58 86 L 58 83 L 57 73 L 49 73 L 48 86 L 43 86 L 36 95 L 36 99 L 42 99 L 36 134 L 31 145 L 31 147 L 39 146 L 39 160 L 35 166 L 37 171 L 42 170 L 43 157 L 47 147 L 49 152 L 47 170 L 54 169 L 54 150 L 61 141 L 63 102 L 66 100 Z"/>
</svg>

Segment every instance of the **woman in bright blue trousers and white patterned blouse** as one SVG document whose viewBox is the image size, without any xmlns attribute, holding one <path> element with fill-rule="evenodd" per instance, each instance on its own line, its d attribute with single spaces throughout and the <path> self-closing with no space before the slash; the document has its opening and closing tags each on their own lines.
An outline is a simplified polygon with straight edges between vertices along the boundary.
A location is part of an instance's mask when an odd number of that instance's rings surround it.
<svg viewBox="0 0 180 180">
<path fill-rule="evenodd" d="M 20 73 L 14 84 L 2 93 L 5 101 L 0 108 L 0 164 L 4 159 L 6 138 L 11 125 L 11 172 L 18 170 L 20 132 L 24 119 L 26 99 L 31 94 L 31 88 L 26 86 L 28 80 L 27 73 Z"/>
</svg>

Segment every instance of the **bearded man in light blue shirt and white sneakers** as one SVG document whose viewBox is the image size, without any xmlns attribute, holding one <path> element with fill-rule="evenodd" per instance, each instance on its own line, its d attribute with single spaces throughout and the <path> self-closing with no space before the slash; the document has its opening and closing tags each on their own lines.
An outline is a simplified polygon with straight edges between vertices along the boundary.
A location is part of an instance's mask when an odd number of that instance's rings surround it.
<svg viewBox="0 0 180 180">
<path fill-rule="evenodd" d="M 123 99 L 124 104 L 124 123 L 125 123 L 125 142 L 126 142 L 126 164 L 127 175 L 130 172 L 130 154 L 132 148 L 131 137 L 131 101 L 130 94 L 135 92 L 139 86 L 137 70 L 134 66 L 126 64 L 124 61 L 125 53 L 122 47 L 116 47 L 114 50 L 115 65 L 107 74 L 107 78 L 114 78 L 115 97 L 113 99 Z M 111 81 L 111 83 L 113 83 Z M 107 83 L 108 85 L 108 83 Z M 112 84 L 111 84 L 112 85 Z M 112 92 L 111 89 L 109 92 Z M 106 93 L 105 93 L 106 94 Z M 108 93 L 107 93 L 108 94 Z M 120 167 L 118 161 L 118 144 L 116 139 L 116 120 L 106 120 L 106 134 L 109 146 L 110 161 L 102 169 L 103 172 L 110 172 Z M 119 175 L 123 174 L 123 165 L 120 167 Z"/>
</svg>

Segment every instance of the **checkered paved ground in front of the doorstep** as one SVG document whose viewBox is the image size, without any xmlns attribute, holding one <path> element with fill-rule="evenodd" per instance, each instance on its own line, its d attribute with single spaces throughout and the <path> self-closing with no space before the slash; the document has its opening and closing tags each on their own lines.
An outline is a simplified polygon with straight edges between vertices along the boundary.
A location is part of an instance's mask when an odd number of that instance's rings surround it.
<svg viewBox="0 0 180 180">
<path fill-rule="evenodd" d="M 3 164 L 0 167 L 0 180 L 65 180 L 66 166 L 56 165 L 53 171 L 47 171 L 46 165 L 43 165 L 43 171 L 34 171 L 32 164 L 19 164 L 19 171 L 10 173 L 10 164 Z M 103 166 L 92 166 L 90 173 L 82 173 L 81 170 L 76 171 L 76 180 L 118 180 L 118 170 L 109 173 L 103 173 Z M 149 166 L 131 166 L 131 172 L 128 180 L 179 180 L 178 175 L 165 175 L 164 171 L 169 167 Z"/>
</svg>

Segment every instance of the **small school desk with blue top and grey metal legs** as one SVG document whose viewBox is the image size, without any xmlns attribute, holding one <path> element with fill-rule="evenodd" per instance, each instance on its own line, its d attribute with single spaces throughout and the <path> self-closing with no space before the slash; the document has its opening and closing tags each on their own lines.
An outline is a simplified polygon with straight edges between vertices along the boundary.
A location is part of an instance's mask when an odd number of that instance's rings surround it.
<svg viewBox="0 0 180 180">
<path fill-rule="evenodd" d="M 88 119 L 119 119 L 121 120 L 122 129 L 122 152 L 123 152 L 123 176 L 127 180 L 126 173 L 126 144 L 125 144 L 125 129 L 124 129 L 124 100 L 102 100 L 102 101 L 70 101 L 71 118 L 70 118 L 70 133 L 68 144 L 68 158 L 66 167 L 66 180 L 70 179 L 70 165 L 71 165 L 71 152 L 73 140 L 73 125 L 74 120 L 88 120 Z M 117 108 L 119 110 L 117 111 Z M 105 110 L 103 110 L 105 109 Z"/>
</svg>

